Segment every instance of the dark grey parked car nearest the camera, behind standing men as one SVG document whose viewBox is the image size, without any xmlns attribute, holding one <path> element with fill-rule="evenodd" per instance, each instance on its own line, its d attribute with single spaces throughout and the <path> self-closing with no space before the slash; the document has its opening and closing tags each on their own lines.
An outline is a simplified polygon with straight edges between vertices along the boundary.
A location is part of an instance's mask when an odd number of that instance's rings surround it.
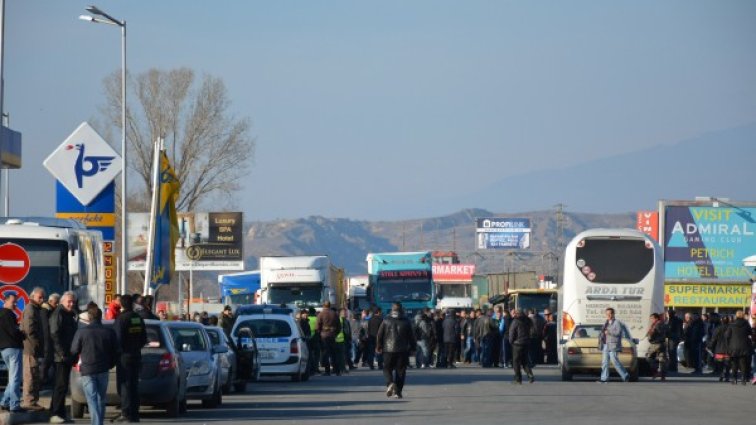
<svg viewBox="0 0 756 425">
<path fill-rule="evenodd" d="M 139 373 L 139 401 L 142 406 L 161 407 L 169 417 L 178 417 L 186 412 L 186 367 L 181 359 L 167 327 L 168 322 L 145 320 L 147 345 L 142 348 L 142 368 Z M 112 327 L 113 321 L 103 321 Z M 87 399 L 81 386 L 78 364 L 71 370 L 71 416 L 81 418 L 87 407 Z M 116 369 L 110 370 L 106 403 L 121 404 L 118 396 Z"/>
</svg>

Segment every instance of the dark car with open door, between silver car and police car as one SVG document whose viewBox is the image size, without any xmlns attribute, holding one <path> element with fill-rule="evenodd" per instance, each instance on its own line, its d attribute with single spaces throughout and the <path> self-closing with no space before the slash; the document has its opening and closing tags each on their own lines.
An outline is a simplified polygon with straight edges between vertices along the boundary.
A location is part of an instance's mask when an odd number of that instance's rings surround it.
<svg viewBox="0 0 756 425">
<path fill-rule="evenodd" d="M 252 348 L 242 350 L 234 344 L 223 332 L 223 329 L 217 326 L 205 326 L 210 341 L 213 346 L 221 345 L 228 348 L 228 352 L 216 354 L 216 363 L 221 371 L 221 389 L 224 394 L 231 392 L 233 387 L 236 392 L 244 392 L 247 389 L 247 381 L 256 379 L 260 375 L 260 363 L 256 355 L 256 346 L 254 339 L 249 338 L 252 342 Z M 253 374 L 254 373 L 254 374 Z"/>
</svg>

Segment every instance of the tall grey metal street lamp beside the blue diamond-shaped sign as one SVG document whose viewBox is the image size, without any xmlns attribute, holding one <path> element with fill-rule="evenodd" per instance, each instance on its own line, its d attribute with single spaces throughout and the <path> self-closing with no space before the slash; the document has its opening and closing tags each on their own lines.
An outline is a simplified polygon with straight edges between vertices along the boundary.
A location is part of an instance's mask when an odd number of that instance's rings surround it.
<svg viewBox="0 0 756 425">
<path fill-rule="evenodd" d="M 95 24 L 108 24 L 121 27 L 121 267 L 120 293 L 126 293 L 126 274 L 128 270 L 128 254 L 126 241 L 126 21 L 119 21 L 108 15 L 97 6 L 89 6 L 87 12 L 92 15 L 81 15 L 79 19 Z"/>
</svg>

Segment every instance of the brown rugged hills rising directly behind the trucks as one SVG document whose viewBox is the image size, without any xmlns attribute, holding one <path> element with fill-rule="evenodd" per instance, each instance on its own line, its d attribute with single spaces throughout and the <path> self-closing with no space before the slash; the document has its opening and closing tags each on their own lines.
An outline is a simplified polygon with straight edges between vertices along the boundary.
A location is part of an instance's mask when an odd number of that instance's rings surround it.
<svg viewBox="0 0 756 425">
<path fill-rule="evenodd" d="M 477 217 L 530 218 L 531 249 L 514 256 L 474 248 Z M 585 214 L 565 212 L 562 245 L 587 228 L 634 227 L 634 213 Z M 454 250 L 463 262 L 476 263 L 481 273 L 535 270 L 551 273 L 556 263 L 558 235 L 555 211 L 496 214 L 467 209 L 452 215 L 406 221 L 354 221 L 308 217 L 248 223 L 245 253 L 249 269 L 265 255 L 327 254 L 350 274 L 366 273 L 368 252 Z M 554 255 L 548 254 L 549 252 Z"/>
</svg>

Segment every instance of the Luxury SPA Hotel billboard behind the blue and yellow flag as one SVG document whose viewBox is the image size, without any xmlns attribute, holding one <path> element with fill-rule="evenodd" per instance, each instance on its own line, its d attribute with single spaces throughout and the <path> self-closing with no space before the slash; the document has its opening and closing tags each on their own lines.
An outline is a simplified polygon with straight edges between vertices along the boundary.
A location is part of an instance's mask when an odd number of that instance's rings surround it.
<svg viewBox="0 0 756 425">
<path fill-rule="evenodd" d="M 242 213 L 178 213 L 176 270 L 244 270 Z M 129 214 L 129 270 L 144 271 L 150 230 L 148 213 Z"/>
</svg>

